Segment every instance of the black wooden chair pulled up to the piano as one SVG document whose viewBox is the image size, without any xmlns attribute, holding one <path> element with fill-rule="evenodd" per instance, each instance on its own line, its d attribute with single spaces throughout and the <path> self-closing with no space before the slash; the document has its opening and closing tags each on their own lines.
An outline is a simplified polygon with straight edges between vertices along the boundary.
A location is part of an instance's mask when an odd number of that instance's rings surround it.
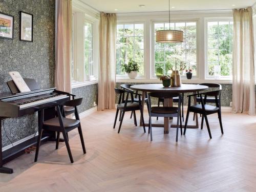
<svg viewBox="0 0 256 192">
<path fill-rule="evenodd" d="M 40 141 L 41 141 L 41 136 L 42 136 L 42 131 L 43 130 L 57 132 L 56 150 L 58 149 L 58 146 L 59 146 L 60 133 L 62 133 L 63 138 L 64 138 L 65 143 L 66 143 L 66 147 L 67 147 L 67 150 L 68 150 L 70 161 L 71 161 L 71 163 L 73 163 L 74 160 L 73 160 L 72 153 L 71 153 L 71 150 L 70 150 L 70 145 L 69 145 L 67 133 L 74 130 L 75 128 L 77 128 L 78 133 L 80 135 L 80 140 L 81 140 L 81 144 L 82 144 L 83 153 L 86 154 L 86 147 L 84 146 L 81 123 L 80 123 L 79 115 L 78 115 L 78 112 L 77 112 L 77 106 L 80 105 L 81 103 L 82 103 L 82 98 L 73 99 L 73 100 L 70 100 L 70 101 L 60 103 L 56 107 L 58 117 L 55 117 L 55 118 L 52 118 L 52 119 L 49 119 L 49 120 L 46 120 L 46 121 L 44 121 L 44 109 L 42 110 L 42 112 L 41 112 L 42 115 L 40 116 L 39 127 L 38 127 L 38 138 L 37 138 L 37 145 L 36 145 L 35 162 L 37 161 L 37 158 L 38 158 Z M 74 107 L 75 108 L 75 119 L 70 119 L 70 118 L 63 117 L 63 115 L 61 113 L 61 110 L 60 110 L 60 108 L 62 106 L 72 106 L 72 107 Z"/>
</svg>

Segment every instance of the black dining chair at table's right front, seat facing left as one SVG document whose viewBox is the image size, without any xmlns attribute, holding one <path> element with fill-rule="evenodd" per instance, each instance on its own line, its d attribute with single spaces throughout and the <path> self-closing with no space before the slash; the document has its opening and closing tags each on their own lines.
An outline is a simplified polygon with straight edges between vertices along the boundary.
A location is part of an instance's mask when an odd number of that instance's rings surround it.
<svg viewBox="0 0 256 192">
<path fill-rule="evenodd" d="M 209 127 L 207 115 L 218 113 L 218 118 L 219 118 L 220 127 L 221 127 L 221 133 L 223 134 L 223 127 L 222 127 L 222 120 L 221 120 L 221 103 L 220 103 L 221 90 L 199 93 L 201 104 L 191 105 L 191 102 L 190 102 L 191 96 L 197 96 L 197 95 L 198 94 L 188 95 L 188 106 L 187 106 L 187 115 L 186 115 L 185 126 L 184 126 L 184 135 L 186 133 L 189 112 L 202 114 L 202 123 L 203 123 L 203 119 L 205 119 L 210 139 L 211 139 L 211 133 L 210 133 L 210 127 Z M 204 98 L 202 95 L 204 95 Z M 211 97 L 215 98 L 216 106 L 205 104 L 207 102 L 207 96 L 211 96 Z M 201 129 L 202 129 L 202 125 L 201 125 Z"/>
</svg>

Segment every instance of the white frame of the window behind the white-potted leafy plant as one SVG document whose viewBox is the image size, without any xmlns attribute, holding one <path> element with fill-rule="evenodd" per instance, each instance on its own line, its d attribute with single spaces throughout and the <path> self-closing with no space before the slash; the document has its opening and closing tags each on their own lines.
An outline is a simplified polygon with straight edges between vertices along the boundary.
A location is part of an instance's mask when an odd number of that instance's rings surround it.
<svg viewBox="0 0 256 192">
<path fill-rule="evenodd" d="M 135 24 L 143 24 L 143 65 L 144 65 L 144 75 L 138 75 L 138 77 L 136 77 L 136 79 L 145 79 L 146 78 L 146 65 L 145 65 L 145 54 L 146 54 L 146 23 L 144 21 L 142 22 L 122 22 L 122 21 L 118 21 L 117 25 L 135 25 Z M 127 74 L 116 74 L 116 79 L 130 79 Z"/>
</svg>

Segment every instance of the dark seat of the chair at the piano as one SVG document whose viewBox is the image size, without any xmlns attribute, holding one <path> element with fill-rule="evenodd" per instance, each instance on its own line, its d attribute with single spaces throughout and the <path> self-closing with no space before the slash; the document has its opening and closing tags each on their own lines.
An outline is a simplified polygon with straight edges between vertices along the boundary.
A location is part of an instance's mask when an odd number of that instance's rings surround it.
<svg viewBox="0 0 256 192">
<path fill-rule="evenodd" d="M 69 119 L 69 118 L 62 118 L 62 119 L 63 119 L 63 125 L 65 128 L 74 127 L 80 123 L 80 121 L 76 120 L 76 119 Z M 60 126 L 59 118 L 55 117 L 55 118 L 46 120 L 46 121 L 44 121 L 44 125 L 59 127 Z"/>
</svg>

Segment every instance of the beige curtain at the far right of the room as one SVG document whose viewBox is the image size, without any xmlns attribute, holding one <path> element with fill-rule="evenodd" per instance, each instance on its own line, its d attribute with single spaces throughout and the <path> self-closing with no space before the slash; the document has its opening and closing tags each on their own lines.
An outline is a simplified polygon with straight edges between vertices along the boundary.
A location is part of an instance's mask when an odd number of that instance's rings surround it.
<svg viewBox="0 0 256 192">
<path fill-rule="evenodd" d="M 255 115 L 252 9 L 233 10 L 232 111 Z"/>
</svg>

